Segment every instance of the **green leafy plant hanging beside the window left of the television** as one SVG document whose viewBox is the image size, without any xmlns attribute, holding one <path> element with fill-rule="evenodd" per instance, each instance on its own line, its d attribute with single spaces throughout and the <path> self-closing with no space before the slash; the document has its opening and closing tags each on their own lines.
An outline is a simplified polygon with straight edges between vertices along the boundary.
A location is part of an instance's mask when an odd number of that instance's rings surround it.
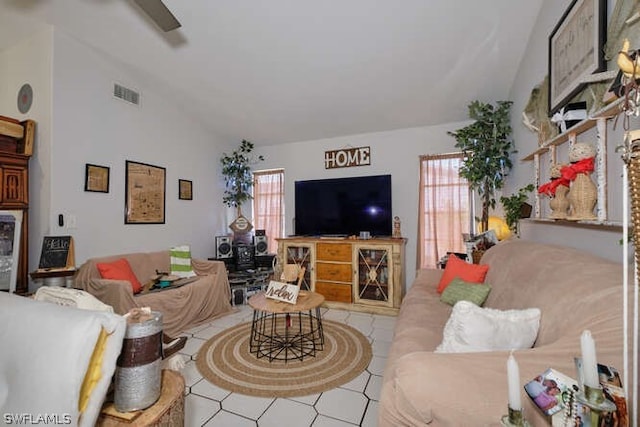
<svg viewBox="0 0 640 427">
<path fill-rule="evenodd" d="M 251 195 L 253 187 L 251 165 L 264 160 L 263 156 L 252 156 L 252 151 L 253 143 L 243 139 L 238 149 L 230 155 L 222 153 L 220 158 L 222 175 L 226 184 L 222 201 L 229 207 L 238 208 L 238 212 L 244 202 L 253 198 Z"/>
</svg>

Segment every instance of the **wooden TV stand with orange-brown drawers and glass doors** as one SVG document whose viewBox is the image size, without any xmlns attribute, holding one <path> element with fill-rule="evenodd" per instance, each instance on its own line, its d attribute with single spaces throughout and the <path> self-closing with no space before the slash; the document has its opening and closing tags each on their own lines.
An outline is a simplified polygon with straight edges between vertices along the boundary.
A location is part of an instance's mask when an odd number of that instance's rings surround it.
<svg viewBox="0 0 640 427">
<path fill-rule="evenodd" d="M 284 264 L 305 267 L 302 289 L 322 294 L 324 305 L 398 314 L 404 289 L 406 239 L 288 237 L 278 241 L 278 280 Z"/>
</svg>

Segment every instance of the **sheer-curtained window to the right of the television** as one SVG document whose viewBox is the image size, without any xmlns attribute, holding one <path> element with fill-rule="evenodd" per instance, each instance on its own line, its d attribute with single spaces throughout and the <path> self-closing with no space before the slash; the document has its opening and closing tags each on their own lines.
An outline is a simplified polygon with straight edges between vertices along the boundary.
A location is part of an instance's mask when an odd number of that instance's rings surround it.
<svg viewBox="0 0 640 427">
<path fill-rule="evenodd" d="M 434 268 L 447 252 L 466 252 L 471 192 L 458 174 L 462 153 L 420 157 L 418 268 Z"/>
</svg>

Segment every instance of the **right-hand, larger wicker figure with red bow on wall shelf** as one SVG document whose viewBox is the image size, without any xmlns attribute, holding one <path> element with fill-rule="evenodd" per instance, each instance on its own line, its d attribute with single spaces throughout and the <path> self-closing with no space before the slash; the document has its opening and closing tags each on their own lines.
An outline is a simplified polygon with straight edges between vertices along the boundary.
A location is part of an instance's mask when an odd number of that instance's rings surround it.
<svg viewBox="0 0 640 427">
<path fill-rule="evenodd" d="M 571 181 L 569 190 L 569 220 L 595 220 L 593 213 L 598 200 L 598 189 L 591 180 L 594 169 L 595 147 L 586 143 L 575 143 L 569 148 L 571 165 L 561 169 L 564 178 Z"/>
</svg>

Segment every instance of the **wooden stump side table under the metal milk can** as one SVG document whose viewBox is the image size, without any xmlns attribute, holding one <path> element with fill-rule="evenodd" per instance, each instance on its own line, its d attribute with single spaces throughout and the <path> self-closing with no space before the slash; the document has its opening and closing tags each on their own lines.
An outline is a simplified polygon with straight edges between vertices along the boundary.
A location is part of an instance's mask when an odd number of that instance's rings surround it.
<svg viewBox="0 0 640 427">
<path fill-rule="evenodd" d="M 162 371 L 162 391 L 156 403 L 143 411 L 118 412 L 106 402 L 97 426 L 182 426 L 184 425 L 184 378 L 179 372 Z"/>
</svg>

